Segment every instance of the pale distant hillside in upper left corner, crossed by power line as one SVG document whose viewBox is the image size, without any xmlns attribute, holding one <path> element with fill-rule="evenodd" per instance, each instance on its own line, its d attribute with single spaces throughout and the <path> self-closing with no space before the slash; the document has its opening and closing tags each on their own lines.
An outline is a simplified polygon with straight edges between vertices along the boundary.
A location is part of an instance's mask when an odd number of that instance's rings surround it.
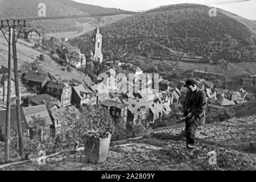
<svg viewBox="0 0 256 182">
<path fill-rule="evenodd" d="M 120 12 L 100 6 L 86 5 L 70 0 L 0 0 L 1 19 L 38 17 L 39 3 L 46 4 L 46 16 L 68 16 Z M 93 21 L 97 18 L 53 19 L 29 21 L 28 27 L 42 28 L 43 32 L 76 31 L 82 27 L 79 23 Z"/>
</svg>

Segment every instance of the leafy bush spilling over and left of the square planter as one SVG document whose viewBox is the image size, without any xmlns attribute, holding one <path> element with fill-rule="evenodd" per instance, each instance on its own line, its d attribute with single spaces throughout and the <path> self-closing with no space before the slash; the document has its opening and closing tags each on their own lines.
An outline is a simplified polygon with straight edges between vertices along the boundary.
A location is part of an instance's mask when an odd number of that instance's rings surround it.
<svg viewBox="0 0 256 182">
<path fill-rule="evenodd" d="M 95 138 L 106 138 L 114 133 L 113 119 L 108 110 L 97 106 L 82 107 L 81 113 L 62 112 L 59 121 L 61 127 L 70 127 L 72 130 L 63 131 L 58 135 L 60 147 L 73 147 L 75 142 L 82 143 L 85 135 Z"/>
</svg>

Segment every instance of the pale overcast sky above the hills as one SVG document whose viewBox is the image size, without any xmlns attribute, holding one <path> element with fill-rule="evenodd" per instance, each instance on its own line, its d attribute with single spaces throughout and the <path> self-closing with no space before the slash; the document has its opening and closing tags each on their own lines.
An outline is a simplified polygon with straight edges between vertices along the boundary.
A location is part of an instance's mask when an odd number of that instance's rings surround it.
<svg viewBox="0 0 256 182">
<path fill-rule="evenodd" d="M 89 5 L 97 5 L 102 7 L 115 7 L 123 10 L 147 10 L 162 5 L 172 5 L 177 3 L 199 3 L 208 4 L 213 2 L 226 2 L 227 0 L 73 0 L 77 2 L 86 3 Z M 243 16 L 247 19 L 256 20 L 256 0 L 249 2 L 237 2 L 226 5 L 216 5 L 220 9 L 230 11 L 234 14 Z"/>
</svg>

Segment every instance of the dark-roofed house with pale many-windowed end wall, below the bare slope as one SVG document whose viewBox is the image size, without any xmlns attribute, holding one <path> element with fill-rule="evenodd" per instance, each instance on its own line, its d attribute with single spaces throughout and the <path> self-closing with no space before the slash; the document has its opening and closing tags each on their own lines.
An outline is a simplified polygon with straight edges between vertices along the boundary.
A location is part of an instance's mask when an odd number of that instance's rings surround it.
<svg viewBox="0 0 256 182">
<path fill-rule="evenodd" d="M 72 87 L 64 82 L 49 81 L 46 93 L 60 100 L 61 107 L 71 105 Z"/>
</svg>

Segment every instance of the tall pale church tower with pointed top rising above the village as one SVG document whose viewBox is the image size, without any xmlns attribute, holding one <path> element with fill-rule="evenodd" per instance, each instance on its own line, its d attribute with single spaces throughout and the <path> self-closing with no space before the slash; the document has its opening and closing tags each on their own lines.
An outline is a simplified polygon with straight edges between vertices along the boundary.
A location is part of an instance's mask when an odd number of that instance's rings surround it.
<svg viewBox="0 0 256 182">
<path fill-rule="evenodd" d="M 95 49 L 94 49 L 93 60 L 98 61 L 101 64 L 103 61 L 103 55 L 101 52 L 102 35 L 100 34 L 99 28 L 96 28 L 96 36 L 95 36 L 94 44 L 95 44 Z"/>
</svg>

